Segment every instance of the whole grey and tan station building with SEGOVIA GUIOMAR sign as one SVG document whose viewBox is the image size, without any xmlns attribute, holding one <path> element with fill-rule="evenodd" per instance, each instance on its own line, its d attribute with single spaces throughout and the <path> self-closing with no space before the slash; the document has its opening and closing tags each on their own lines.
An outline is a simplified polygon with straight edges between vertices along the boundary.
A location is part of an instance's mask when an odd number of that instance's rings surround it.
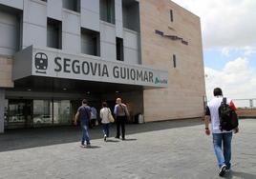
<svg viewBox="0 0 256 179">
<path fill-rule="evenodd" d="M 200 18 L 170 0 L 0 0 L 0 132 L 72 125 L 81 99 L 203 116 Z"/>
</svg>

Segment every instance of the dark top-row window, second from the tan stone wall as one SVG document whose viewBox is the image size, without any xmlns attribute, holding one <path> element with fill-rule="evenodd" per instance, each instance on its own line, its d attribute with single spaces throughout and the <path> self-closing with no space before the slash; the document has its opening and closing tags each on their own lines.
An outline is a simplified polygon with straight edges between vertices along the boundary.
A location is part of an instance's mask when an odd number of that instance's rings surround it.
<svg viewBox="0 0 256 179">
<path fill-rule="evenodd" d="M 115 24 L 114 0 L 100 0 L 100 20 Z"/>
</svg>

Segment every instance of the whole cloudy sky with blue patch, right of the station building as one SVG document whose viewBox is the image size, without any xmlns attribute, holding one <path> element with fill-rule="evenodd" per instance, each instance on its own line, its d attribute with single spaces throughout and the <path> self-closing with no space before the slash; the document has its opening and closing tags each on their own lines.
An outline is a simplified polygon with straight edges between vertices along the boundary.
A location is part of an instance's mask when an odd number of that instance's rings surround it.
<svg viewBox="0 0 256 179">
<path fill-rule="evenodd" d="M 201 19 L 207 100 L 256 98 L 256 0 L 173 1 Z"/>
</svg>

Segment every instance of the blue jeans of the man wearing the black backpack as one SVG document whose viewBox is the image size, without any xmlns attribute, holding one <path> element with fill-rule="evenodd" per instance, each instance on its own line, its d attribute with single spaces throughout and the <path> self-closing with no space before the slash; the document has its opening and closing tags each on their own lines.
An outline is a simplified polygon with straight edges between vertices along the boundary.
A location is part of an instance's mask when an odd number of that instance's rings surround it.
<svg viewBox="0 0 256 179">
<path fill-rule="evenodd" d="M 231 164 L 231 140 L 233 132 L 213 133 L 213 147 L 218 160 L 219 168 L 226 165 L 230 169 Z"/>
</svg>

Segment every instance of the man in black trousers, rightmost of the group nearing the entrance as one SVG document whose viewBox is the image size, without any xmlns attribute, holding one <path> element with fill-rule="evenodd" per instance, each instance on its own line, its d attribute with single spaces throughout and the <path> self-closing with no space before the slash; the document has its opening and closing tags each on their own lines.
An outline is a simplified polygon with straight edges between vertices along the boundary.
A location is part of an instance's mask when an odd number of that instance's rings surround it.
<svg viewBox="0 0 256 179">
<path fill-rule="evenodd" d="M 117 105 L 114 109 L 114 114 L 116 115 L 117 122 L 117 135 L 116 138 L 120 137 L 120 127 L 121 127 L 121 137 L 125 140 L 125 121 L 129 116 L 128 109 L 125 104 L 121 102 L 121 98 L 117 98 Z"/>
</svg>

